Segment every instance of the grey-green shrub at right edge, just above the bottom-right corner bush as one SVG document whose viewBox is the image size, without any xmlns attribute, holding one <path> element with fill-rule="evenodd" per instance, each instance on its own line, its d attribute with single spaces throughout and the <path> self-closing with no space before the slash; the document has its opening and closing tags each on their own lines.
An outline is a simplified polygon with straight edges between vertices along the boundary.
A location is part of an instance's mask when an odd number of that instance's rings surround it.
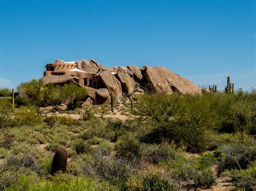
<svg viewBox="0 0 256 191">
<path fill-rule="evenodd" d="M 218 161 L 219 172 L 226 169 L 245 169 L 256 160 L 255 140 L 248 137 L 243 143 L 237 141 L 220 146 L 221 160 Z M 240 166 L 240 167 L 239 167 Z"/>
</svg>

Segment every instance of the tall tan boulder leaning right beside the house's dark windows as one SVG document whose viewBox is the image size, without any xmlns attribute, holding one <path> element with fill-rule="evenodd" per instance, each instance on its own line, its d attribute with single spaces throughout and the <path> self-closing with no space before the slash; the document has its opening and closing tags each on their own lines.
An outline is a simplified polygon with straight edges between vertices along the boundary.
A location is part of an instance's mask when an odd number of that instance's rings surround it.
<svg viewBox="0 0 256 191">
<path fill-rule="evenodd" d="M 121 83 L 117 80 L 116 77 L 114 77 L 111 72 L 105 70 L 102 73 L 99 73 L 99 77 L 100 81 L 104 84 L 107 90 L 109 90 L 109 93 L 112 91 L 114 96 L 122 98 Z"/>
</svg>

